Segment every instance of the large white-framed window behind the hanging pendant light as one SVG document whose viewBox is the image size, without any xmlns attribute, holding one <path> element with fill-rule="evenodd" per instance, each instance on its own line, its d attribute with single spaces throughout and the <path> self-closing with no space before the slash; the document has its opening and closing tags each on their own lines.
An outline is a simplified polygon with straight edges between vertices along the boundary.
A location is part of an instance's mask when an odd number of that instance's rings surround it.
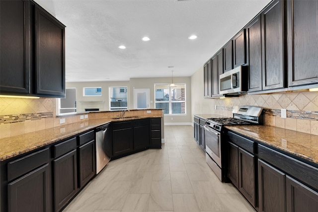
<svg viewBox="0 0 318 212">
<path fill-rule="evenodd" d="M 164 114 L 186 114 L 185 84 L 155 84 L 155 108 L 164 108 Z"/>
</svg>

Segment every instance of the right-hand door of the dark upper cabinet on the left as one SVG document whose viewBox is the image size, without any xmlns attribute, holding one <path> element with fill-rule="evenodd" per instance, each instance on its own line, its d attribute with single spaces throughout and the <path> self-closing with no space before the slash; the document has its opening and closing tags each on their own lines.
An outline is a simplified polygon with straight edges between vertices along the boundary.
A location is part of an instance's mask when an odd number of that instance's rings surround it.
<svg viewBox="0 0 318 212">
<path fill-rule="evenodd" d="M 36 94 L 65 97 L 65 26 L 35 6 Z"/>
</svg>

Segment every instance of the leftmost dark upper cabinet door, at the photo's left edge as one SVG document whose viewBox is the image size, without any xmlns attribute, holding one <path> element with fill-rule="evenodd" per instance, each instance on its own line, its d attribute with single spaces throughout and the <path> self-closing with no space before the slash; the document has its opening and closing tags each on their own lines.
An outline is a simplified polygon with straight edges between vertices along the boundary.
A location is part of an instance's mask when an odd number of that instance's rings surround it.
<svg viewBox="0 0 318 212">
<path fill-rule="evenodd" d="M 0 93 L 30 93 L 30 2 L 0 1 Z"/>
</svg>

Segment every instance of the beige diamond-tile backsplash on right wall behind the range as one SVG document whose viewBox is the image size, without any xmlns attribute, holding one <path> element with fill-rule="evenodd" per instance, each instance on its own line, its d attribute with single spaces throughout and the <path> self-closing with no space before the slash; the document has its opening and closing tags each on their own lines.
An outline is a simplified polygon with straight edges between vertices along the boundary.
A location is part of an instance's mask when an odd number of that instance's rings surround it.
<svg viewBox="0 0 318 212">
<path fill-rule="evenodd" d="M 287 92 L 241 95 L 215 99 L 216 113 L 231 117 L 234 106 L 252 105 L 265 108 L 265 125 L 318 135 L 318 92 Z M 280 109 L 287 109 L 287 119 Z"/>
</svg>

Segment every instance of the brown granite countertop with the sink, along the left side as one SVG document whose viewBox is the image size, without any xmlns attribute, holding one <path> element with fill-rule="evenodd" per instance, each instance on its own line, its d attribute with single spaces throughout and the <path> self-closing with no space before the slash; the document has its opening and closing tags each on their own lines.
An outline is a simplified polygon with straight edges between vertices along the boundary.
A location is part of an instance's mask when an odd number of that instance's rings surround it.
<svg viewBox="0 0 318 212">
<path fill-rule="evenodd" d="M 0 139 L 0 161 L 23 154 L 25 152 L 43 147 L 45 145 L 67 139 L 79 133 L 93 130 L 94 128 L 116 121 L 135 120 L 143 118 L 161 117 L 157 115 L 138 115 L 137 118 L 125 119 L 92 119 L 74 124 L 61 125 L 59 127 L 41 130 L 33 133 L 27 133 L 20 136 Z"/>
</svg>

